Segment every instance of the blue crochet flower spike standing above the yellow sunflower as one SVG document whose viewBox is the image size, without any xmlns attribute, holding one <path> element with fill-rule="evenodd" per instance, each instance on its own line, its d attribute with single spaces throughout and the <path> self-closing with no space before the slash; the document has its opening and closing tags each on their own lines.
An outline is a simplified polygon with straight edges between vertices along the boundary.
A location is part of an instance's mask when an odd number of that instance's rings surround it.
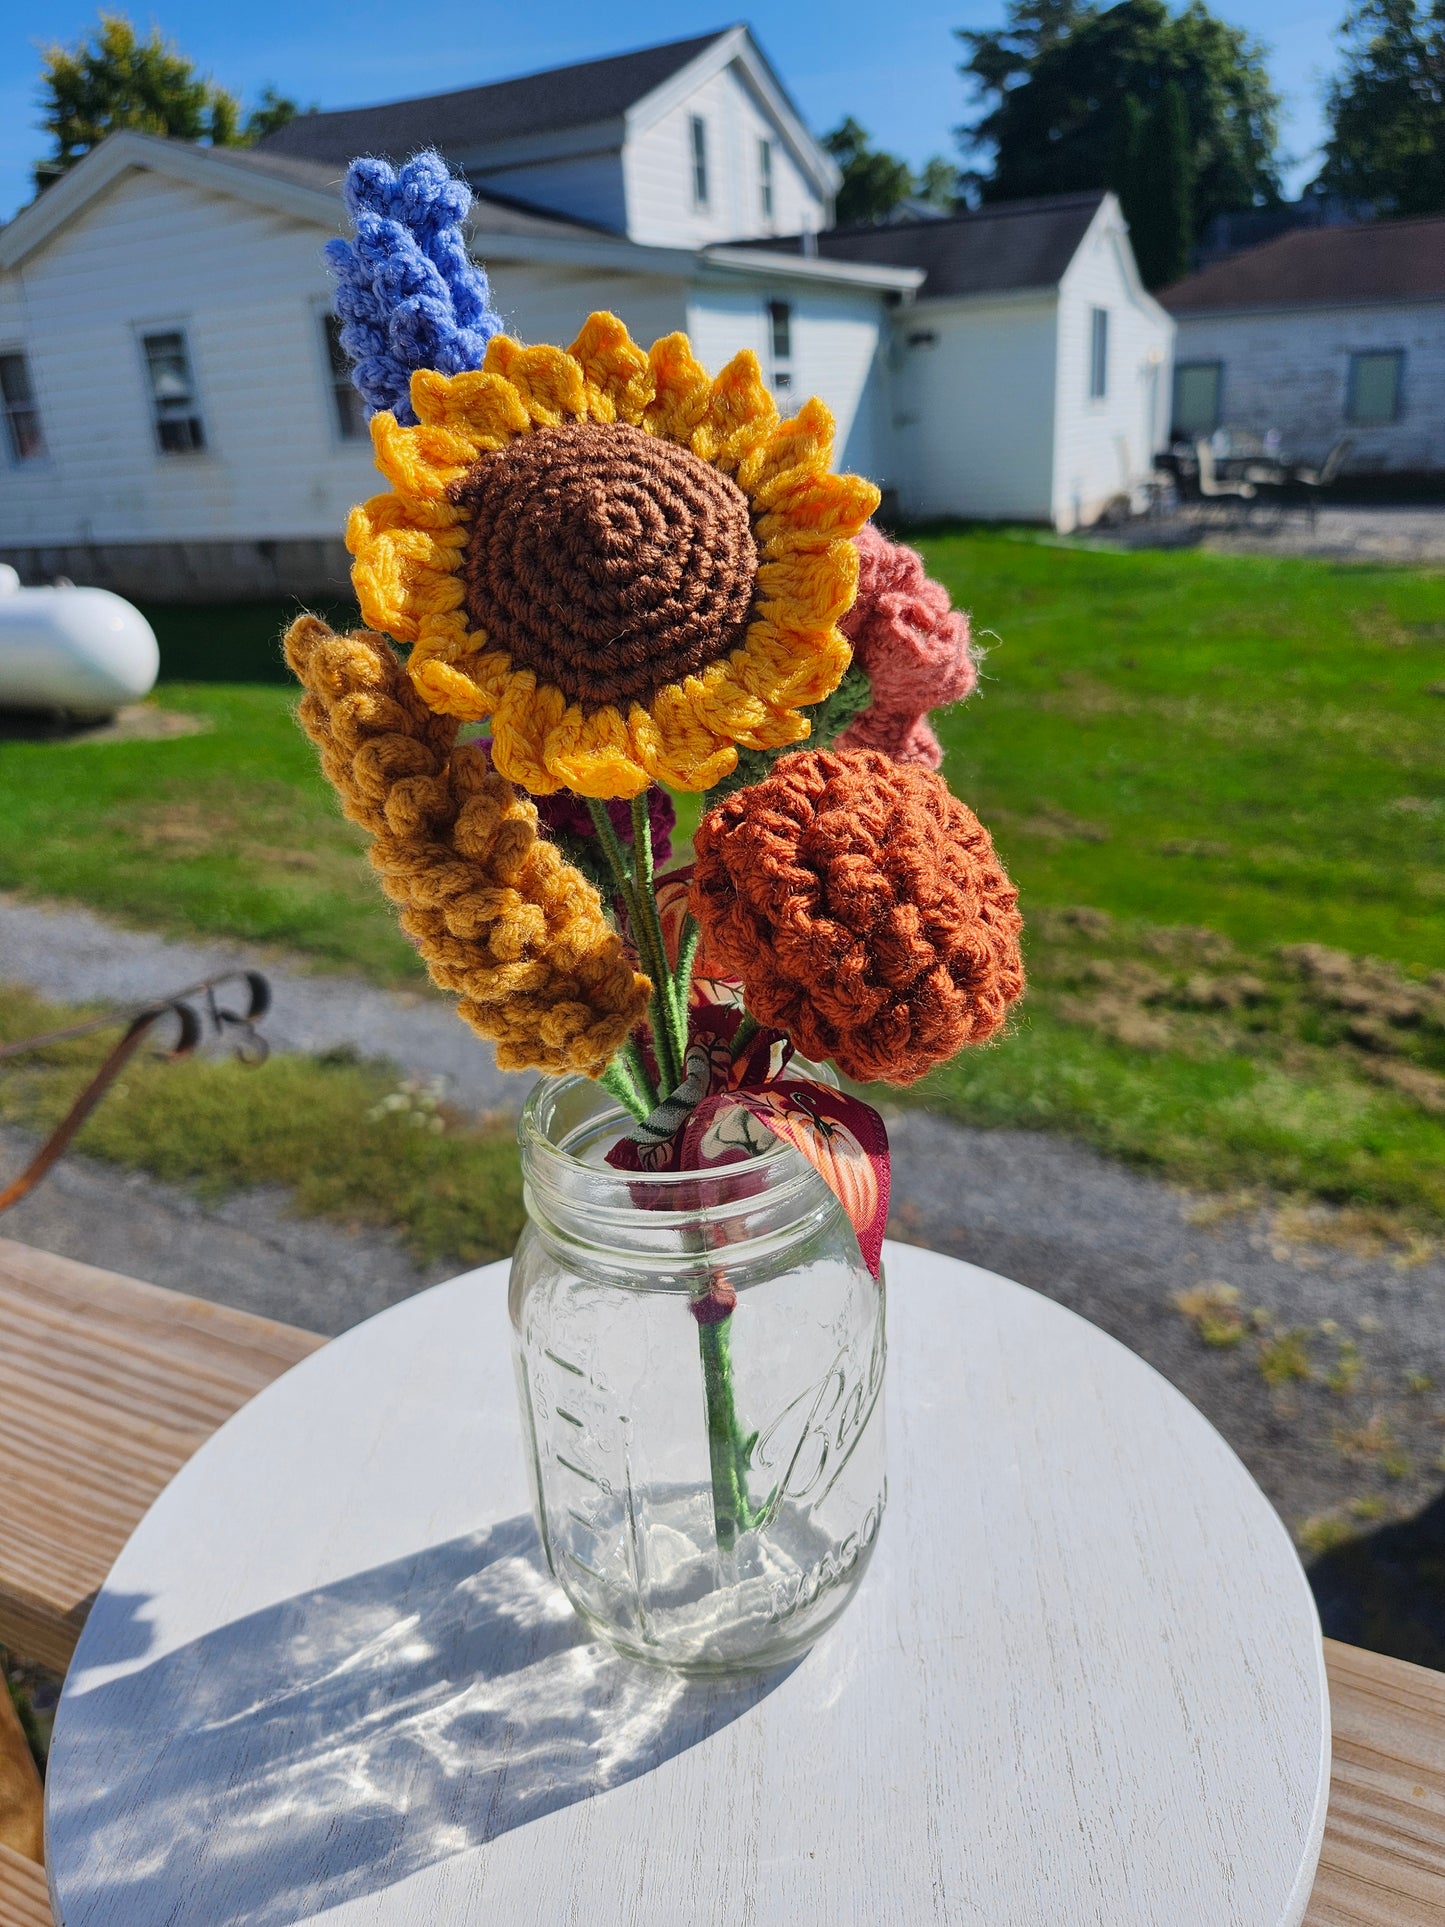
<svg viewBox="0 0 1445 1927">
<path fill-rule="evenodd" d="M 326 258 L 351 380 L 368 414 L 391 409 L 412 426 L 414 370 L 480 368 L 501 328 L 487 277 L 462 239 L 472 191 L 441 154 L 426 152 L 403 168 L 353 160 L 343 195 L 356 239 L 328 241 Z"/>
</svg>

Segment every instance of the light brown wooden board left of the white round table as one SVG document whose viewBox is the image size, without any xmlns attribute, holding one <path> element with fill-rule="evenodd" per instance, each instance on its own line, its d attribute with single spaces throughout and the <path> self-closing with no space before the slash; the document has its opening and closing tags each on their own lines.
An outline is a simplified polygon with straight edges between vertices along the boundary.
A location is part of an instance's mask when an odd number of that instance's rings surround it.
<svg viewBox="0 0 1445 1927">
<path fill-rule="evenodd" d="M 162 1486 L 324 1343 L 0 1239 L 0 1644 L 64 1673 Z"/>
</svg>

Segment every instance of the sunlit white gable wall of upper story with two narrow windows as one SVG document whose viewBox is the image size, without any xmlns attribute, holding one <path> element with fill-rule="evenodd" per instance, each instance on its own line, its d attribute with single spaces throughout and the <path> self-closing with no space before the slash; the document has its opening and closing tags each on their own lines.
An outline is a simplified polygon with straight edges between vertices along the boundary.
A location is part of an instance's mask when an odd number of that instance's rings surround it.
<svg viewBox="0 0 1445 1927">
<path fill-rule="evenodd" d="M 707 206 L 692 197 L 692 116 L 707 127 Z M 773 220 L 763 218 L 757 143 L 773 141 Z M 653 125 L 628 137 L 628 235 L 655 247 L 705 247 L 823 225 L 823 202 L 736 66 L 711 75 Z"/>
</svg>

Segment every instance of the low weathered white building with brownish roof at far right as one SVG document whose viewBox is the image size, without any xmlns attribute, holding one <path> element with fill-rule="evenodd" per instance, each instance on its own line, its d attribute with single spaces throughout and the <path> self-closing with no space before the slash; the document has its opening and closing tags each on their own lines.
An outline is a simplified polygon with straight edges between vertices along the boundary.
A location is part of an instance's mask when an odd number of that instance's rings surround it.
<svg viewBox="0 0 1445 1927">
<path fill-rule="evenodd" d="M 1173 426 L 1274 430 L 1347 474 L 1445 470 L 1445 218 L 1314 227 L 1160 295 L 1179 326 Z"/>
</svg>

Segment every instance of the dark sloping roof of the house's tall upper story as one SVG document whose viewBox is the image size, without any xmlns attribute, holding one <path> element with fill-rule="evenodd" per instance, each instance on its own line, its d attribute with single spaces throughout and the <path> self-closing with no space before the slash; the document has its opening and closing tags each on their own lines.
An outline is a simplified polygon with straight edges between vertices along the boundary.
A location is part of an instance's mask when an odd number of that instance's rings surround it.
<svg viewBox="0 0 1445 1927">
<path fill-rule="evenodd" d="M 670 40 L 667 46 L 645 46 L 636 54 L 613 54 L 609 60 L 584 60 L 576 67 L 547 67 L 516 81 L 464 87 L 455 94 L 301 114 L 266 135 L 258 150 L 345 166 L 355 154 L 405 160 L 424 146 L 439 146 L 443 154 L 466 152 L 493 141 L 617 119 L 724 31 L 728 29 L 703 33 L 694 40 Z"/>
</svg>

